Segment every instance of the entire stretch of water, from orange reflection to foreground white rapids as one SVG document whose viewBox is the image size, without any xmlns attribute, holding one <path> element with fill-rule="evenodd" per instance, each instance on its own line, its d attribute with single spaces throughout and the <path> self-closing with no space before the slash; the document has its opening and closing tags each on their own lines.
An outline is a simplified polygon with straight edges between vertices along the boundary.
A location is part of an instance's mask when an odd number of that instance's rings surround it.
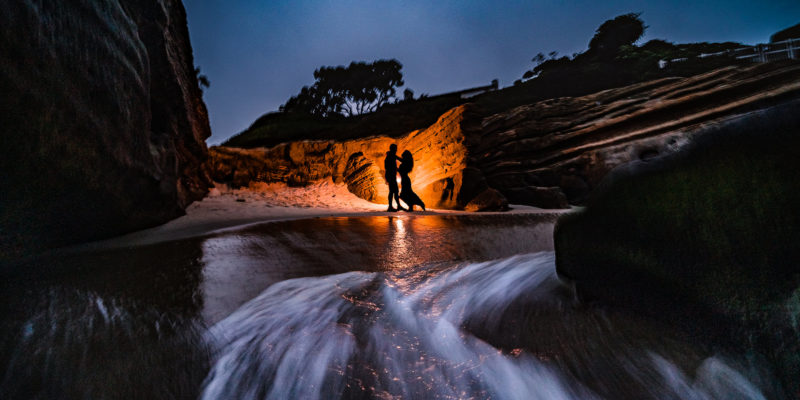
<svg viewBox="0 0 800 400">
<path fill-rule="evenodd" d="M 751 357 L 578 302 L 554 220 L 320 218 L 27 261 L 0 398 L 777 397 Z"/>
</svg>

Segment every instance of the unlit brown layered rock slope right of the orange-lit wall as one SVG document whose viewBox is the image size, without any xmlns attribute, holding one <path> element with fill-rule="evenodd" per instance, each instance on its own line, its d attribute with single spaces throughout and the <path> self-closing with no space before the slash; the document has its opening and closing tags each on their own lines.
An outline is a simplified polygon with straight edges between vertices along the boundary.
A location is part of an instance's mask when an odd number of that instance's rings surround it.
<svg viewBox="0 0 800 400">
<path fill-rule="evenodd" d="M 694 132 L 800 97 L 800 64 L 728 67 L 545 100 L 465 129 L 469 163 L 511 203 L 582 204 L 614 167 L 679 149 Z"/>
</svg>

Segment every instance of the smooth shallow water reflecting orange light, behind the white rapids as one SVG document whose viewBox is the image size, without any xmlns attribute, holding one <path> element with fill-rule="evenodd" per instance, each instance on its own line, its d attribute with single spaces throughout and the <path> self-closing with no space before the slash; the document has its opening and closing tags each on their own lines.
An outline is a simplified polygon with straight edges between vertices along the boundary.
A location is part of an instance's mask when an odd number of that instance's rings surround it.
<svg viewBox="0 0 800 400">
<path fill-rule="evenodd" d="M 202 243 L 204 319 L 219 321 L 269 285 L 348 271 L 484 261 L 553 248 L 556 215 L 340 217 L 256 225 Z"/>
</svg>

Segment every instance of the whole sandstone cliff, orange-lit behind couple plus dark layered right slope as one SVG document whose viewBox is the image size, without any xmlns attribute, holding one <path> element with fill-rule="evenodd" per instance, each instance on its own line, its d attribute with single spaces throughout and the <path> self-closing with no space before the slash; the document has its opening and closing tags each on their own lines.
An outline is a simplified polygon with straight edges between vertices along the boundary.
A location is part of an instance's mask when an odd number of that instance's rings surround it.
<svg viewBox="0 0 800 400">
<path fill-rule="evenodd" d="M 614 167 L 675 151 L 705 126 L 800 96 L 800 64 L 728 67 L 484 115 L 472 105 L 428 129 L 392 139 L 302 141 L 211 151 L 213 177 L 305 185 L 333 177 L 385 203 L 383 153 L 396 142 L 417 160 L 414 188 L 442 208 L 484 210 L 508 202 L 545 208 L 582 204 Z M 499 192 L 499 193 L 498 193 Z"/>
</svg>

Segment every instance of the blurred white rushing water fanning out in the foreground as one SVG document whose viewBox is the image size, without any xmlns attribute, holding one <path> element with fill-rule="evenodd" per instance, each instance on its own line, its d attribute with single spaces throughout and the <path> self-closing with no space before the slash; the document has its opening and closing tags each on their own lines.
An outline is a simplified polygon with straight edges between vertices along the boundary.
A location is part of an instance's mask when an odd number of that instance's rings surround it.
<svg viewBox="0 0 800 400">
<path fill-rule="evenodd" d="M 580 308 L 552 252 L 290 279 L 209 331 L 201 398 L 764 398 L 753 371 L 622 323 Z"/>
</svg>

